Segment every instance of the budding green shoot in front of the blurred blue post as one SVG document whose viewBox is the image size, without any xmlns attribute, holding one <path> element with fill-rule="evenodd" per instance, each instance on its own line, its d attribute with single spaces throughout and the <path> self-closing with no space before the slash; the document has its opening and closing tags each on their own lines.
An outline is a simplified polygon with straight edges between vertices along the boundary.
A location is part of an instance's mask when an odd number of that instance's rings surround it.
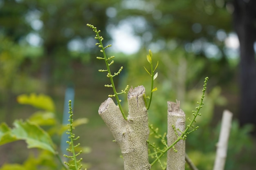
<svg viewBox="0 0 256 170">
<path fill-rule="evenodd" d="M 70 139 L 70 141 L 67 141 L 67 144 L 69 144 L 71 146 L 71 149 L 67 148 L 67 151 L 72 153 L 72 156 L 68 156 L 68 155 L 64 155 L 64 157 L 67 158 L 71 158 L 72 159 L 72 163 L 67 163 L 64 162 L 67 166 L 69 166 L 70 168 L 75 168 L 75 170 L 80 170 L 82 168 L 81 165 L 81 161 L 82 158 L 80 158 L 79 160 L 77 160 L 77 156 L 81 154 L 82 151 L 79 151 L 77 154 L 75 152 L 75 148 L 78 147 L 80 144 L 74 145 L 74 141 L 79 139 L 78 137 L 75 137 L 75 134 L 73 133 L 73 130 L 75 129 L 73 127 L 73 111 L 72 111 L 72 107 L 71 107 L 71 100 L 69 101 L 69 112 L 70 114 L 70 119 L 68 120 L 70 122 L 70 124 L 68 124 L 68 126 L 70 126 L 70 129 L 68 129 L 67 134 L 70 135 L 68 138 Z"/>
</svg>

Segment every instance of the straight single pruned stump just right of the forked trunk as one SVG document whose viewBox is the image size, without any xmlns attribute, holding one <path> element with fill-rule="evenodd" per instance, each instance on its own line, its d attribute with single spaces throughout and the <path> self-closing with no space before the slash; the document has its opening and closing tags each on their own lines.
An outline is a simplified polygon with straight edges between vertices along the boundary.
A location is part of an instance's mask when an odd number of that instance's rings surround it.
<svg viewBox="0 0 256 170">
<path fill-rule="evenodd" d="M 185 113 L 180 109 L 180 102 L 167 102 L 168 104 L 168 129 L 167 144 L 171 146 L 176 140 L 177 135 L 185 130 Z M 175 126 L 175 127 L 173 127 Z M 181 131 L 181 132 L 180 132 Z M 177 135 L 176 135 L 177 134 Z M 167 152 L 166 170 L 184 170 L 185 169 L 185 141 L 180 140 L 175 144 L 175 150 L 170 149 Z"/>
</svg>

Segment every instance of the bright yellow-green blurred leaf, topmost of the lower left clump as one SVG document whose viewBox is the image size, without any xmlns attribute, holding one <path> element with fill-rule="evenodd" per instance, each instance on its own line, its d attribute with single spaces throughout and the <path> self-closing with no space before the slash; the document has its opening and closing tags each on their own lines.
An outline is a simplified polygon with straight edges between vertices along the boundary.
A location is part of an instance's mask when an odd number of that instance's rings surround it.
<svg viewBox="0 0 256 170">
<path fill-rule="evenodd" d="M 36 108 L 44 109 L 53 113 L 55 112 L 54 102 L 52 101 L 52 98 L 47 95 L 36 95 L 35 93 L 31 93 L 30 95 L 23 94 L 17 97 L 17 101 L 20 104 L 29 104 Z"/>
</svg>

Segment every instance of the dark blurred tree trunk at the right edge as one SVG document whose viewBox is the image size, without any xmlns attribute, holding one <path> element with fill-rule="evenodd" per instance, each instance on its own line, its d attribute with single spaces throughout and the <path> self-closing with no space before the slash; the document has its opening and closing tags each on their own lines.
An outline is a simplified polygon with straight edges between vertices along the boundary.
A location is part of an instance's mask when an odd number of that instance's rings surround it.
<svg viewBox="0 0 256 170">
<path fill-rule="evenodd" d="M 233 17 L 240 42 L 240 124 L 256 125 L 256 0 L 234 0 Z"/>
</svg>

